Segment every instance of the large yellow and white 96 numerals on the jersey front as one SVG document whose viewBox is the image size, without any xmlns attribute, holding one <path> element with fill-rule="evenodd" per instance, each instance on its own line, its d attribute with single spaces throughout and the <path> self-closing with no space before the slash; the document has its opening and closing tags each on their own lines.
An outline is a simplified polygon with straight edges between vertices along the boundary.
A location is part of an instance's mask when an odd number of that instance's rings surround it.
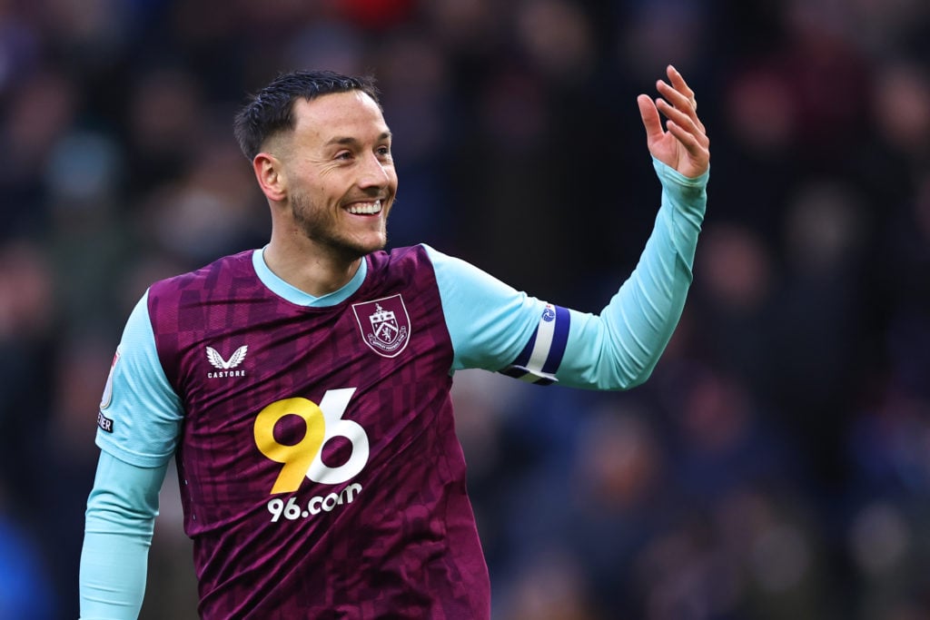
<svg viewBox="0 0 930 620">
<path fill-rule="evenodd" d="M 358 475 L 368 462 L 368 435 L 357 422 L 343 419 L 355 388 L 329 389 L 319 404 L 305 398 L 272 402 L 255 418 L 255 443 L 259 452 L 283 464 L 272 486 L 272 495 L 292 493 L 304 476 L 322 484 L 339 484 Z M 303 418 L 306 432 L 292 445 L 274 439 L 274 425 L 285 416 Z M 334 437 L 352 443 L 349 460 L 336 468 L 323 462 L 323 446 Z"/>
</svg>

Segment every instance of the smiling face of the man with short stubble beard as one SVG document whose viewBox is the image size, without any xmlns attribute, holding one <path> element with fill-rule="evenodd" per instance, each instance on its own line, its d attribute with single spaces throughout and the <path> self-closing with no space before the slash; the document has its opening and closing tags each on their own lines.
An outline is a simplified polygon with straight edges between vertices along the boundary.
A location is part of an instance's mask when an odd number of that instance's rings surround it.
<svg viewBox="0 0 930 620">
<path fill-rule="evenodd" d="M 344 259 L 383 248 L 397 174 L 378 104 L 360 91 L 333 93 L 299 99 L 294 113 L 281 159 L 298 232 Z"/>
</svg>

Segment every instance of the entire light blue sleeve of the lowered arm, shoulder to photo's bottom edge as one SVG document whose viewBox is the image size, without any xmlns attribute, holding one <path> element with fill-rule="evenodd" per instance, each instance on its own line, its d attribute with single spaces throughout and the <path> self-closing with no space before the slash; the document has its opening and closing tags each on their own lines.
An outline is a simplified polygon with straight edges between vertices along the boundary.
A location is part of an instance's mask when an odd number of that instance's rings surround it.
<svg viewBox="0 0 930 620">
<path fill-rule="evenodd" d="M 135 619 L 158 492 L 183 416 L 158 360 L 148 293 L 126 321 L 98 413 L 100 461 L 87 498 L 79 592 L 82 620 Z"/>
</svg>

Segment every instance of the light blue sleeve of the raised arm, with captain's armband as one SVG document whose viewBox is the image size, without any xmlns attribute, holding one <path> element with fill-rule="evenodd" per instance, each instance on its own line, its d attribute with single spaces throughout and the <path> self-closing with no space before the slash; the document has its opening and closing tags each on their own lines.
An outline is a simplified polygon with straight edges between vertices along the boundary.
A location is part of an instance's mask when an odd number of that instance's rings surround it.
<svg viewBox="0 0 930 620">
<path fill-rule="evenodd" d="M 648 378 L 684 309 L 709 178 L 653 165 L 662 185 L 655 226 L 636 269 L 598 315 L 552 306 L 427 248 L 453 371 L 485 368 L 586 389 L 629 389 Z"/>
</svg>

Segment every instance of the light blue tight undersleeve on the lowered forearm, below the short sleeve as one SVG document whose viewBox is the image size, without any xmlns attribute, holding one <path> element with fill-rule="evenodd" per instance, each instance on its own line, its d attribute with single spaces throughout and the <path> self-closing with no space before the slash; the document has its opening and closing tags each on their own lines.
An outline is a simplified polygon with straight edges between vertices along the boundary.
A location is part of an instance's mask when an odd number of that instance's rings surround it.
<svg viewBox="0 0 930 620">
<path fill-rule="evenodd" d="M 166 469 L 167 464 L 140 468 L 100 453 L 81 550 L 81 620 L 139 617 Z"/>
</svg>

